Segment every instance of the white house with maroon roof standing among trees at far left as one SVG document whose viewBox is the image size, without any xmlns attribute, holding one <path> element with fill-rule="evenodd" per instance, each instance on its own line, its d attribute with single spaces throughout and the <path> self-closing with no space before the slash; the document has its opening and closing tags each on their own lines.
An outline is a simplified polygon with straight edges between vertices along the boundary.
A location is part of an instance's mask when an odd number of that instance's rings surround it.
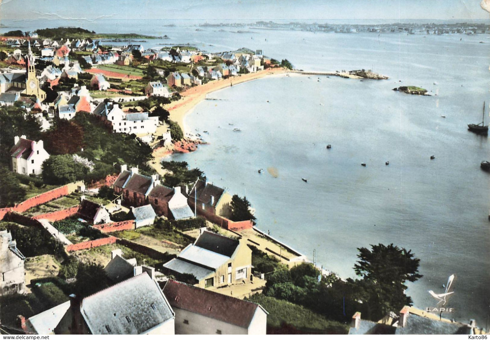
<svg viewBox="0 0 490 340">
<path fill-rule="evenodd" d="M 25 136 L 15 136 L 15 145 L 10 149 L 12 156 L 12 171 L 25 175 L 40 175 L 43 172 L 42 165 L 49 158 L 49 153 L 44 149 L 43 141 L 34 142 Z"/>
</svg>

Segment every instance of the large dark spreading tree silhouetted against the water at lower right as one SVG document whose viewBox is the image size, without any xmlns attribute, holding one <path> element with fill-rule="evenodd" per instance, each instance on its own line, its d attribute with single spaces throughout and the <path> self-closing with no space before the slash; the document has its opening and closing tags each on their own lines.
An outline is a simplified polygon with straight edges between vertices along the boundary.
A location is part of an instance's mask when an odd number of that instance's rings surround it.
<svg viewBox="0 0 490 340">
<path fill-rule="evenodd" d="M 362 280 L 355 284 L 365 291 L 361 298 L 367 308 L 368 318 L 378 320 L 391 311 L 399 311 L 405 305 L 412 305 L 412 299 L 405 294 L 405 282 L 415 282 L 422 277 L 418 273 L 420 259 L 412 250 L 399 248 L 393 243 L 358 248 L 359 261 L 354 265 Z"/>
</svg>

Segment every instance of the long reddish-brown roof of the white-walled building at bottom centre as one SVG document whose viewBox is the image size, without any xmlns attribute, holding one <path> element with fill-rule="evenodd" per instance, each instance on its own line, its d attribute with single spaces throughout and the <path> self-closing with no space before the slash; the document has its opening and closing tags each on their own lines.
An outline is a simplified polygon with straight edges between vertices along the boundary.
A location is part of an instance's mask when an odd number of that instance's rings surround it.
<svg viewBox="0 0 490 340">
<path fill-rule="evenodd" d="M 248 328 L 260 305 L 169 280 L 163 291 L 174 308 Z M 265 313 L 267 313 L 264 310 Z"/>
</svg>

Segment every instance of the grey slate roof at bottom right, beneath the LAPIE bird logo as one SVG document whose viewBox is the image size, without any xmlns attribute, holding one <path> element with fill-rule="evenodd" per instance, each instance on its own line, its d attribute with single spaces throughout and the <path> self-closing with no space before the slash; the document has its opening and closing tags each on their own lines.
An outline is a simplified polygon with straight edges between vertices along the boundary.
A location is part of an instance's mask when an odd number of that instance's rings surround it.
<svg viewBox="0 0 490 340">
<path fill-rule="evenodd" d="M 469 334 L 469 330 L 459 322 L 445 322 L 410 313 L 405 327 L 398 326 L 394 334 Z"/>
</svg>

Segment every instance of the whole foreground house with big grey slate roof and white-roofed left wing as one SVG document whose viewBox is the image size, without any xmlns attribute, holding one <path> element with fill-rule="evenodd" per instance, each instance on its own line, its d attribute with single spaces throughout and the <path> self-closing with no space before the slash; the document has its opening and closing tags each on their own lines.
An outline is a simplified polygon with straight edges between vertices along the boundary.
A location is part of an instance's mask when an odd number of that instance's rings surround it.
<svg viewBox="0 0 490 340">
<path fill-rule="evenodd" d="M 133 277 L 83 299 L 72 294 L 68 303 L 30 317 L 23 329 L 35 334 L 173 335 L 175 315 L 154 273 L 152 267 L 134 267 Z"/>
</svg>

